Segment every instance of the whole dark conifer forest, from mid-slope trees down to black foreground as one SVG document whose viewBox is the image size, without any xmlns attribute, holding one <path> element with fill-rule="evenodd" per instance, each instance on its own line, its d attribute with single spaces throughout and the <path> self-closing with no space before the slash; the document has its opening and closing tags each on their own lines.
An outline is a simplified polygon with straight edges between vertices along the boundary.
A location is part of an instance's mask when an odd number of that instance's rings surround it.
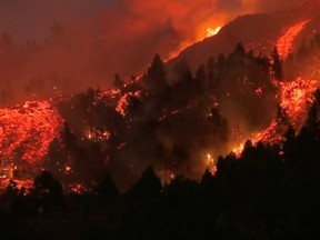
<svg viewBox="0 0 320 240">
<path fill-rule="evenodd" d="M 66 122 L 47 170 L 30 189 L 12 180 L 0 196 L 1 239 L 312 239 L 320 90 L 298 128 L 274 101 L 272 79 L 309 77 L 319 50 L 319 37 L 286 60 L 239 43 L 194 76 L 186 61 L 167 73 L 156 56 L 130 82 L 116 74 L 114 91 L 60 101 Z M 254 131 L 273 118 L 278 141 L 248 139 L 230 151 L 237 122 Z M 213 166 L 207 152 L 220 154 Z M 59 167 L 67 164 L 70 174 Z M 74 182 L 86 191 L 70 191 Z"/>
</svg>

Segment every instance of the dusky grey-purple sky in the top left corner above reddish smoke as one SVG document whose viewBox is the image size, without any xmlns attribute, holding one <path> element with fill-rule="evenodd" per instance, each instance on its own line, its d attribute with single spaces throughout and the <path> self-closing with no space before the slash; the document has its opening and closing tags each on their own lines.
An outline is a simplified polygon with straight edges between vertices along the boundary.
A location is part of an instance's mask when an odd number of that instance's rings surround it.
<svg viewBox="0 0 320 240">
<path fill-rule="evenodd" d="M 116 0 L 0 0 L 0 31 L 17 39 L 38 39 L 48 34 L 49 27 L 77 22 L 111 8 Z"/>
</svg>

